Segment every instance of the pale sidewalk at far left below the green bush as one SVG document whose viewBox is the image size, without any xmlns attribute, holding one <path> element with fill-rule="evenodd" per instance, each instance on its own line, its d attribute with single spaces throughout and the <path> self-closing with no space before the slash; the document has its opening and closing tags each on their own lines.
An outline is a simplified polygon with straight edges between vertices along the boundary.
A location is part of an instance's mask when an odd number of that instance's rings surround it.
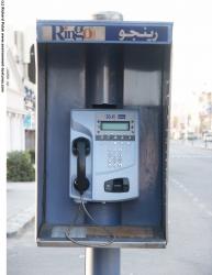
<svg viewBox="0 0 212 275">
<path fill-rule="evenodd" d="M 7 237 L 18 234 L 35 215 L 35 183 L 7 184 Z"/>
</svg>

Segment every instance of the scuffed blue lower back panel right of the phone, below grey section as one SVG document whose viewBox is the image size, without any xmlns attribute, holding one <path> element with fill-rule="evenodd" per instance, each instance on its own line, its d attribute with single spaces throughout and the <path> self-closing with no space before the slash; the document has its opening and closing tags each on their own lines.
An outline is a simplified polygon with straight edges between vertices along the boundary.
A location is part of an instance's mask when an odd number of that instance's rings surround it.
<svg viewBox="0 0 212 275">
<path fill-rule="evenodd" d="M 122 224 L 161 227 L 160 109 L 141 107 L 140 197 L 122 204 Z"/>
</svg>

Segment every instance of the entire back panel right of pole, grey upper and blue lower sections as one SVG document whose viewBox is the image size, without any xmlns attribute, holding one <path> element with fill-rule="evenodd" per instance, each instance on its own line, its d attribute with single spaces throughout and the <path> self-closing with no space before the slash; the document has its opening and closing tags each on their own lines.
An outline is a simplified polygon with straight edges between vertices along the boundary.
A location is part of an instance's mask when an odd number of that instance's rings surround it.
<svg viewBox="0 0 212 275">
<path fill-rule="evenodd" d="M 140 106 L 140 198 L 122 204 L 122 223 L 163 228 L 161 46 L 125 46 L 124 106 Z"/>
</svg>

